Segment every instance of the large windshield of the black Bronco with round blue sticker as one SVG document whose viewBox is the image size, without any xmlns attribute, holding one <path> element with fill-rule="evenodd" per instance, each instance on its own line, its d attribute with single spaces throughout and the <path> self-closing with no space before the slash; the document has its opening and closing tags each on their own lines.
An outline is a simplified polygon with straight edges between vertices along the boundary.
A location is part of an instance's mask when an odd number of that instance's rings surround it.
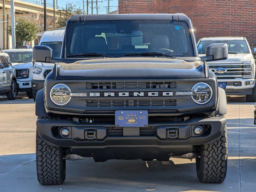
<svg viewBox="0 0 256 192">
<path fill-rule="evenodd" d="M 101 53 L 122 57 L 143 52 L 160 52 L 176 57 L 194 56 L 186 22 L 76 22 L 71 26 L 66 47 L 67 56 Z"/>
</svg>

